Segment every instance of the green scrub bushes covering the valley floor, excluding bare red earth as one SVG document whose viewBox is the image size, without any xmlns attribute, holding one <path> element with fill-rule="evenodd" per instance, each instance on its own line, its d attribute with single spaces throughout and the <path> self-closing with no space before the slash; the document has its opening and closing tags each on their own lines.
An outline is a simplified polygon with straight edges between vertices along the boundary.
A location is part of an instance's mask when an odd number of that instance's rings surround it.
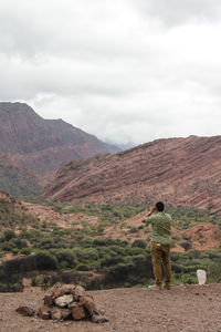
<svg viewBox="0 0 221 332">
<path fill-rule="evenodd" d="M 19 200 L 0 199 L 0 291 L 21 291 L 22 278 L 44 274 L 44 284 L 81 280 L 87 289 L 147 287 L 154 282 L 149 248 L 144 239 L 133 242 L 102 237 L 108 225 L 147 209 L 138 205 L 95 205 L 91 203 L 50 204 L 62 214 L 84 212 L 97 216 L 98 225 L 83 222 L 82 228 L 60 228 L 40 222 L 27 214 Z M 186 229 L 210 221 L 221 227 L 221 217 L 209 217 L 207 210 L 169 207 L 173 226 Z M 136 227 L 135 227 L 136 228 Z M 133 230 L 133 228 L 131 228 Z M 135 231 L 135 230 L 133 230 Z M 6 260 L 6 252 L 11 255 Z M 172 282 L 197 283 L 197 269 L 204 269 L 208 282 L 221 282 L 221 250 L 172 252 Z"/>
</svg>

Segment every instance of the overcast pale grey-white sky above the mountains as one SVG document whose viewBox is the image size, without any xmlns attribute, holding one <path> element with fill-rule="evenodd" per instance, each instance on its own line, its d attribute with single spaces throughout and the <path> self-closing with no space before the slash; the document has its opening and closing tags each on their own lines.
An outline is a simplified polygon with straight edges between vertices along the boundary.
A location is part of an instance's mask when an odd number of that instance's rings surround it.
<svg viewBox="0 0 221 332">
<path fill-rule="evenodd" d="M 0 101 L 118 144 L 219 135 L 220 0 L 0 0 Z"/>
</svg>

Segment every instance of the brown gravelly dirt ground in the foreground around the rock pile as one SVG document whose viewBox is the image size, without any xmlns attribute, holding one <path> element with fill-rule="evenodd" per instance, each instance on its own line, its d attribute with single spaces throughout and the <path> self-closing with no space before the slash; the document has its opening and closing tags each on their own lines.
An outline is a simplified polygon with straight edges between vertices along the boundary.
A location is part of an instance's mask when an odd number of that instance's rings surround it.
<svg viewBox="0 0 221 332">
<path fill-rule="evenodd" d="M 19 305 L 36 304 L 44 292 L 0 293 L 0 332 L 221 332 L 221 284 L 178 286 L 171 290 L 92 291 L 109 322 L 43 321 L 22 317 Z"/>
</svg>

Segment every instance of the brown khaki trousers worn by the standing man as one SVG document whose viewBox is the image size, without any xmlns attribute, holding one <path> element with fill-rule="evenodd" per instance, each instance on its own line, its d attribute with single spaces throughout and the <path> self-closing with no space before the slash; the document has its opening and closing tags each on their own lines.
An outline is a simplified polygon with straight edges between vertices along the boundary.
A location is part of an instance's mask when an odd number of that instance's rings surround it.
<svg viewBox="0 0 221 332">
<path fill-rule="evenodd" d="M 171 280 L 170 245 L 151 242 L 150 252 L 156 286 L 161 286 L 161 262 L 165 269 L 165 284 L 169 286 Z"/>
</svg>

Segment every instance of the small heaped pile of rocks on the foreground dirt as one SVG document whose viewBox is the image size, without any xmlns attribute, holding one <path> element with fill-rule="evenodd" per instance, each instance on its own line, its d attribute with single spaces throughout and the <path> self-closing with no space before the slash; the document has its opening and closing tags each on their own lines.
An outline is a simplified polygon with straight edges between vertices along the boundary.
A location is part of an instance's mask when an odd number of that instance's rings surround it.
<svg viewBox="0 0 221 332">
<path fill-rule="evenodd" d="M 43 320 L 91 320 L 94 323 L 109 321 L 103 311 L 96 309 L 93 297 L 83 287 L 74 284 L 56 283 L 43 298 L 39 308 L 19 307 L 17 312 L 22 315 L 36 315 Z"/>
</svg>

